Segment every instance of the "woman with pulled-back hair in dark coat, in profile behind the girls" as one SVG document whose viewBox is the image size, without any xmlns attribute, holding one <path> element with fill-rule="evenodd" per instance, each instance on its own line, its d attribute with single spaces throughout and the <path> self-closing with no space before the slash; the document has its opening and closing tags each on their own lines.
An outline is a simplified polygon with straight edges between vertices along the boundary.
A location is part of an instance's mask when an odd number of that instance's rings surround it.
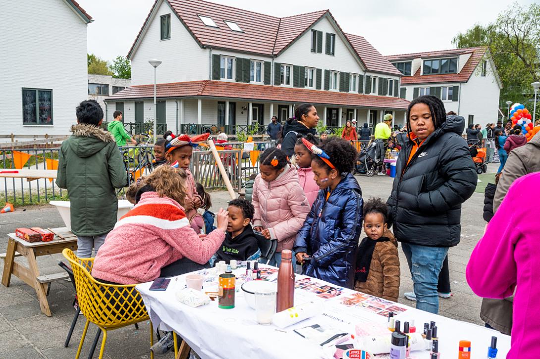
<svg viewBox="0 0 540 359">
<path fill-rule="evenodd" d="M 281 151 L 284 151 L 289 158 L 294 156 L 294 145 L 296 144 L 296 135 L 317 132 L 315 127 L 319 123 L 319 116 L 315 106 L 312 104 L 301 104 L 294 110 L 294 117 L 289 118 L 283 127 L 283 141 Z"/>
</svg>

